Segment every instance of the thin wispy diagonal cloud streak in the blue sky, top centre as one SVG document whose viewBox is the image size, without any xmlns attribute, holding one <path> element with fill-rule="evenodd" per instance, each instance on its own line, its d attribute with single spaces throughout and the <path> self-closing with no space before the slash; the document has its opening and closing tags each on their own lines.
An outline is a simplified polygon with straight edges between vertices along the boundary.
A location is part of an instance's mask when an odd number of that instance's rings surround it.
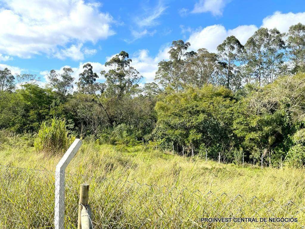
<svg viewBox="0 0 305 229">
<path fill-rule="evenodd" d="M 167 6 L 164 6 L 160 1 L 154 9 L 147 9 L 144 16 L 137 17 L 136 23 L 140 27 L 155 26 L 159 24 L 157 19 L 164 13 L 166 9 Z"/>
</svg>

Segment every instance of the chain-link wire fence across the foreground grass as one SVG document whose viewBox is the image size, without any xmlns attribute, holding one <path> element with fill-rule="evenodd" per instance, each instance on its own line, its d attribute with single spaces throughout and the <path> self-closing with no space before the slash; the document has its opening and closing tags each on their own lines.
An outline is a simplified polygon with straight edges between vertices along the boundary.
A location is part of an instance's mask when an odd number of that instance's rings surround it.
<svg viewBox="0 0 305 229">
<path fill-rule="evenodd" d="M 305 208 L 293 201 L 65 176 L 66 229 L 77 228 L 82 183 L 90 185 L 93 228 L 305 228 Z M 53 171 L 0 166 L 0 228 L 54 228 L 54 182 Z"/>
</svg>

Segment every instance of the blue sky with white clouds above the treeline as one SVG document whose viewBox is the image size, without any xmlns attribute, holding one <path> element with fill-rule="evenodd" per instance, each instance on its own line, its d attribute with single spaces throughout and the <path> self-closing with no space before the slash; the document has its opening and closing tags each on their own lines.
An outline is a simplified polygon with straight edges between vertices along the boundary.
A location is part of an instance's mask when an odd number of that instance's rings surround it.
<svg viewBox="0 0 305 229">
<path fill-rule="evenodd" d="M 0 0 L 0 68 L 37 74 L 43 85 L 51 69 L 70 66 L 76 80 L 86 62 L 107 70 L 105 61 L 124 50 L 145 83 L 173 40 L 215 52 L 228 35 L 245 43 L 259 27 L 286 32 L 298 22 L 305 24 L 299 0 Z"/>
</svg>

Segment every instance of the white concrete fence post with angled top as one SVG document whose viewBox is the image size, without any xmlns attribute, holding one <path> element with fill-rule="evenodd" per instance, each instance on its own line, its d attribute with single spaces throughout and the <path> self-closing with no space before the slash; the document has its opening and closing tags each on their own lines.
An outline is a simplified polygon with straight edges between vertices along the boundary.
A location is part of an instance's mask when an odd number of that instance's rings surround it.
<svg viewBox="0 0 305 229">
<path fill-rule="evenodd" d="M 81 140 L 75 139 L 69 149 L 56 165 L 55 170 L 55 208 L 54 225 L 55 229 L 64 229 L 65 219 L 65 170 L 72 158 L 81 147 Z"/>
</svg>

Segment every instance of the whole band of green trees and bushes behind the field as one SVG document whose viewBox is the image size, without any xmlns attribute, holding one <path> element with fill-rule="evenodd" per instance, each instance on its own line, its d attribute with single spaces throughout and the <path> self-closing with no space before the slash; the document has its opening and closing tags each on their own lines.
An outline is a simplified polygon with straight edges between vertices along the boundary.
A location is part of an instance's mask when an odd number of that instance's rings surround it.
<svg viewBox="0 0 305 229">
<path fill-rule="evenodd" d="M 75 84 L 70 67 L 51 70 L 45 86 L 2 69 L 0 129 L 35 133 L 55 116 L 70 135 L 97 142 L 150 140 L 184 156 L 304 166 L 305 26 L 260 28 L 245 45 L 229 36 L 217 53 L 191 47 L 173 41 L 146 83 L 125 51 L 99 73 L 84 64 Z"/>
</svg>

